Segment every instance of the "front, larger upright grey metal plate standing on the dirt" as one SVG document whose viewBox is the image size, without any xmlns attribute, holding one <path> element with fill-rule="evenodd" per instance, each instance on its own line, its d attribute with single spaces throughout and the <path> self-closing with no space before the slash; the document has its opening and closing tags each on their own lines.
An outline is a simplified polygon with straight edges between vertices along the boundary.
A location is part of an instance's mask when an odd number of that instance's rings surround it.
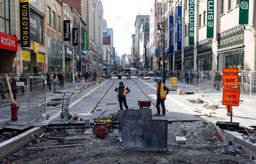
<svg viewBox="0 0 256 164">
<path fill-rule="evenodd" d="M 167 148 L 167 120 L 123 119 L 122 147 Z"/>
</svg>

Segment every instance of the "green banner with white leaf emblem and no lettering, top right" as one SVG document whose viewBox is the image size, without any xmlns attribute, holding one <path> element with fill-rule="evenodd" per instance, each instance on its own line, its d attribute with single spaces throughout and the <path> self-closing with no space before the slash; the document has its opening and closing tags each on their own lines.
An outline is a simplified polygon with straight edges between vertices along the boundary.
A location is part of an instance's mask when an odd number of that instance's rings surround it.
<svg viewBox="0 0 256 164">
<path fill-rule="evenodd" d="M 248 24 L 249 0 L 240 0 L 239 3 L 239 24 Z"/>
</svg>

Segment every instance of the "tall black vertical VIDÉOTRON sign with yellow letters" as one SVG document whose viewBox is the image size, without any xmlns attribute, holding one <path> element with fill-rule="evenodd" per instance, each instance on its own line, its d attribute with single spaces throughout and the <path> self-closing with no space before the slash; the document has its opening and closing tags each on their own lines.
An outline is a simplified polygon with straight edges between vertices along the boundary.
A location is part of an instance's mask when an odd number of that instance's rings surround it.
<svg viewBox="0 0 256 164">
<path fill-rule="evenodd" d="M 20 0 L 20 46 L 30 47 L 29 0 Z"/>
</svg>

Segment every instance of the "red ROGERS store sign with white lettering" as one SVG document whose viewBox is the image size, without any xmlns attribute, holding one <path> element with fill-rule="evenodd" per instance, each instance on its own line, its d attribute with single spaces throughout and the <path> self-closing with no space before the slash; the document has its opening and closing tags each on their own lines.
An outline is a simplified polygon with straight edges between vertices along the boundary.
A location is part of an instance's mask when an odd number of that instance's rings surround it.
<svg viewBox="0 0 256 164">
<path fill-rule="evenodd" d="M 0 49 L 18 51 L 18 39 L 0 32 Z"/>
</svg>

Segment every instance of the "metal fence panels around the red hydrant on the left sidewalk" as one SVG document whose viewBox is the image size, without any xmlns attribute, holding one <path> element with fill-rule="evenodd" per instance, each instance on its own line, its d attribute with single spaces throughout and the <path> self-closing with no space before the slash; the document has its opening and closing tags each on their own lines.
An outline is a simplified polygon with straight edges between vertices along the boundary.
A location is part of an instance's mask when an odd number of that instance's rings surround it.
<svg viewBox="0 0 256 164">
<path fill-rule="evenodd" d="M 11 102 L 19 105 L 17 122 L 33 122 L 46 107 L 46 77 L 0 77 L 0 97 L 0 123 L 11 121 L 14 117 Z"/>
</svg>

